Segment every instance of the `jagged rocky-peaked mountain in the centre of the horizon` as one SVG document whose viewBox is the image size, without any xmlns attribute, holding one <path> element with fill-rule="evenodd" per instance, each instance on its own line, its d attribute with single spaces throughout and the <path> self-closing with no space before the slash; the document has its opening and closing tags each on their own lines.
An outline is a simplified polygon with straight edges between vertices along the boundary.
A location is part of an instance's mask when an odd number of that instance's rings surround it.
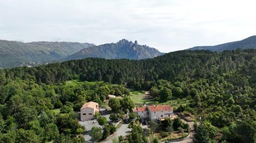
<svg viewBox="0 0 256 143">
<path fill-rule="evenodd" d="M 154 58 L 164 53 L 159 52 L 155 48 L 146 45 L 138 45 L 138 42 L 120 40 L 117 43 L 103 44 L 84 48 L 77 53 L 74 53 L 63 61 L 84 59 L 84 58 L 104 58 L 104 59 L 148 59 Z"/>
</svg>

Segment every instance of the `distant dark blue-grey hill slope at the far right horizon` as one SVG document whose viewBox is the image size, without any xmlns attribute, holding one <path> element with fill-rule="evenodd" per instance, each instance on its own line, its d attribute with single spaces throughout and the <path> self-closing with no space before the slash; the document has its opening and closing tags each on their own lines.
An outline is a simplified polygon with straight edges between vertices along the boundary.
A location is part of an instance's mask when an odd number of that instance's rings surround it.
<svg viewBox="0 0 256 143">
<path fill-rule="evenodd" d="M 196 46 L 189 48 L 188 50 L 211 50 L 221 52 L 224 50 L 235 50 L 235 49 L 256 49 L 256 36 L 248 37 L 241 41 L 224 43 L 216 46 Z"/>
</svg>

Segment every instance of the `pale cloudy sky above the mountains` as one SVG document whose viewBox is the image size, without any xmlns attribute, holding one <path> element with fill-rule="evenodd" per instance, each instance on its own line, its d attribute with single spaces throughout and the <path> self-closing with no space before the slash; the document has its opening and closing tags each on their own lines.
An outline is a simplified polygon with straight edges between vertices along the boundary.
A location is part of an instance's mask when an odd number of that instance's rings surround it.
<svg viewBox="0 0 256 143">
<path fill-rule="evenodd" d="M 256 35 L 256 1 L 0 0 L 0 39 L 96 45 L 121 39 L 170 52 Z"/>
</svg>

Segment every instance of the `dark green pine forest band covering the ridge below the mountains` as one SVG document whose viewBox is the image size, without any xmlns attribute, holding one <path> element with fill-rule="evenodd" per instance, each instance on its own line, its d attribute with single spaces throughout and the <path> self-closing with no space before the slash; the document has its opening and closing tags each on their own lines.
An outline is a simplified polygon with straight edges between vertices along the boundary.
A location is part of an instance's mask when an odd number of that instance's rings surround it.
<svg viewBox="0 0 256 143">
<path fill-rule="evenodd" d="M 70 79 L 126 83 L 129 81 L 156 81 L 158 79 L 182 81 L 189 78 L 210 78 L 232 72 L 248 76 L 248 80 L 254 82 L 256 79 L 255 64 L 256 50 L 253 49 L 221 53 L 205 50 L 184 50 L 139 61 L 88 58 L 33 68 L 18 67 L 5 69 L 5 74 L 2 73 L 1 77 L 5 75 L 5 79 L 14 79 L 32 76 L 37 82 L 46 84 Z"/>
</svg>

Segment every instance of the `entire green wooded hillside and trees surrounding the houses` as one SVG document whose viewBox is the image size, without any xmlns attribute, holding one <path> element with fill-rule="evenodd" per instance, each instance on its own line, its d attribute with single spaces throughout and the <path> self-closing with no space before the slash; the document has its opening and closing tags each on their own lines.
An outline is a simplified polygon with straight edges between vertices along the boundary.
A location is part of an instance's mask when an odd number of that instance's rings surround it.
<svg viewBox="0 0 256 143">
<path fill-rule="evenodd" d="M 67 81 L 71 79 L 80 80 Z M 133 99 L 122 84 L 150 91 L 153 104 L 174 105 L 175 112 L 200 119 L 194 129 L 196 143 L 256 140 L 256 49 L 238 49 L 184 50 L 145 60 L 88 58 L 0 70 L 0 142 L 85 142 L 86 129 L 74 111 L 89 101 L 102 105 L 109 94 L 123 96 L 113 98 L 118 99 L 113 102 L 119 103 L 118 110 L 131 110 Z M 176 121 L 169 123 L 183 126 Z M 109 132 L 105 129 L 102 134 Z"/>
</svg>

